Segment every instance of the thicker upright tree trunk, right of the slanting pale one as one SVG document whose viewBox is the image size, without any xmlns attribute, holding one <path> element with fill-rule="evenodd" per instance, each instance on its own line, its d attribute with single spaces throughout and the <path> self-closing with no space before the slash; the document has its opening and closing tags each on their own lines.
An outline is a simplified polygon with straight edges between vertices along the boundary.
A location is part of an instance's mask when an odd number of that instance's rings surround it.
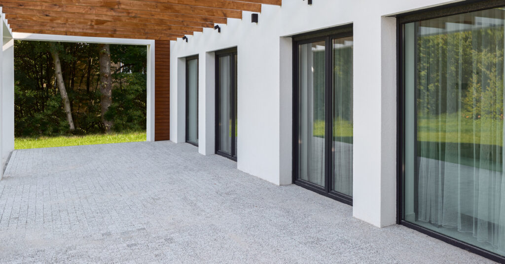
<svg viewBox="0 0 505 264">
<path fill-rule="evenodd" d="M 105 120 L 105 113 L 112 104 L 112 76 L 111 76 L 111 49 L 109 44 L 100 44 L 100 110 L 102 123 L 107 133 L 111 132 L 112 121 Z"/>
</svg>

